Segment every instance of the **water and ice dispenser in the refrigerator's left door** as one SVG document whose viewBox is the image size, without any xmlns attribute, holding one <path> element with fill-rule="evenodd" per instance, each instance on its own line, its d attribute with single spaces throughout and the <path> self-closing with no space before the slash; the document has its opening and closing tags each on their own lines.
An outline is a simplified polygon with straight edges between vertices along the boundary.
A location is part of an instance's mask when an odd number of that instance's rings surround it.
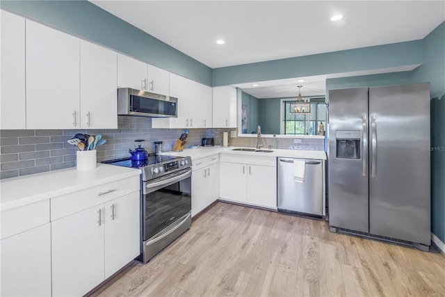
<svg viewBox="0 0 445 297">
<path fill-rule="evenodd" d="M 360 130 L 337 130 L 335 133 L 337 159 L 360 159 Z"/>
</svg>

